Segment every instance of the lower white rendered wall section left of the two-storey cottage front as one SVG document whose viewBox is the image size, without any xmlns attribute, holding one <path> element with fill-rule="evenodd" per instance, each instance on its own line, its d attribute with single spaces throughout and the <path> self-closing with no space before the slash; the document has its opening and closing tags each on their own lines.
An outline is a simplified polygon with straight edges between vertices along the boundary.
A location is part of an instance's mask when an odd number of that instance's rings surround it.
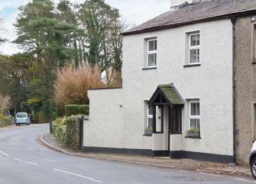
<svg viewBox="0 0 256 184">
<path fill-rule="evenodd" d="M 84 123 L 87 147 L 122 148 L 122 89 L 89 90 L 89 121 Z"/>
</svg>

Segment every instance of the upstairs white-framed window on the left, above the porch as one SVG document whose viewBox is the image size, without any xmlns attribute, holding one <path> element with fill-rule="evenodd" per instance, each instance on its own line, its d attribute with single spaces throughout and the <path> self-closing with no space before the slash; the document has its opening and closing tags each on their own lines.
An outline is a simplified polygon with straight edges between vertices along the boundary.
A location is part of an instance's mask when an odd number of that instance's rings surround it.
<svg viewBox="0 0 256 184">
<path fill-rule="evenodd" d="M 147 68 L 157 66 L 157 39 L 147 40 Z"/>
</svg>

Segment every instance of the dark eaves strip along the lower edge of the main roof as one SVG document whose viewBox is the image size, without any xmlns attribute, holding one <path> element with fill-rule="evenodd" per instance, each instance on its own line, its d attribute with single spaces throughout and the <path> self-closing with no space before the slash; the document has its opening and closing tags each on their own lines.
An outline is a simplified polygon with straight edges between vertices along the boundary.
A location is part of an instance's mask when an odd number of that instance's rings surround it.
<svg viewBox="0 0 256 184">
<path fill-rule="evenodd" d="M 180 27 L 180 26 L 187 25 L 187 24 L 195 24 L 195 23 L 199 23 L 199 22 L 222 20 L 222 19 L 228 19 L 228 18 L 232 18 L 232 17 L 241 17 L 241 16 L 251 15 L 251 14 L 255 14 L 255 13 L 256 13 L 256 10 L 243 11 L 243 12 L 238 12 L 238 13 L 219 15 L 219 16 L 215 16 L 215 17 L 206 17 L 206 18 L 202 18 L 202 19 L 198 19 L 198 20 L 184 21 L 184 22 L 180 22 L 177 24 L 169 24 L 169 25 L 164 25 L 164 26 L 159 26 L 159 27 L 149 27 L 149 28 L 142 29 L 142 30 L 128 31 L 128 32 L 124 32 L 121 34 L 122 34 L 122 36 L 128 36 L 128 35 L 138 34 L 138 33 L 148 33 L 148 32 L 153 32 L 153 31 L 157 31 L 157 30 L 167 30 L 172 27 Z"/>
</svg>

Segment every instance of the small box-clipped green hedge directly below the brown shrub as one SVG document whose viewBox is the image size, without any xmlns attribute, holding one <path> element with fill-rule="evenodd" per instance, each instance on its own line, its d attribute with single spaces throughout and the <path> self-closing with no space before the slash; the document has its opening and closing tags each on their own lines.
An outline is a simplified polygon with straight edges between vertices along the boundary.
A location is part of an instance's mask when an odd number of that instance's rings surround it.
<svg viewBox="0 0 256 184">
<path fill-rule="evenodd" d="M 66 105 L 65 106 L 66 116 L 82 114 L 85 116 L 89 115 L 89 105 Z"/>
</svg>

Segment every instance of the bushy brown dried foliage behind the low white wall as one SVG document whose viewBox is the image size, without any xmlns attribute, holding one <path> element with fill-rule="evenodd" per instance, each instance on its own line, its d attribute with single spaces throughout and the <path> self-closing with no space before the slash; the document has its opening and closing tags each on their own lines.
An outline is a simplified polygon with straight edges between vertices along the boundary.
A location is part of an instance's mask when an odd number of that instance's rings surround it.
<svg viewBox="0 0 256 184">
<path fill-rule="evenodd" d="M 88 104 L 87 90 L 105 87 L 97 66 L 83 68 L 67 67 L 57 71 L 54 84 L 54 100 L 58 106 L 67 104 Z"/>
</svg>

